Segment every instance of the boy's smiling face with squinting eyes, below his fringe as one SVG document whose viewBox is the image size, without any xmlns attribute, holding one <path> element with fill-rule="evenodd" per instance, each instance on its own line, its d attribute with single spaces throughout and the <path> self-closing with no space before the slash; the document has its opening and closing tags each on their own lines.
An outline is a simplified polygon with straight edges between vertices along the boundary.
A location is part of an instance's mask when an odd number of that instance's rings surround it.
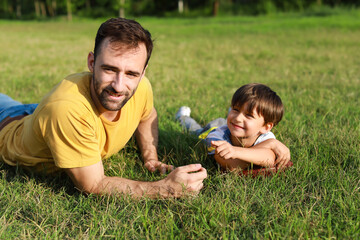
<svg viewBox="0 0 360 240">
<path fill-rule="evenodd" d="M 251 113 L 247 112 L 246 105 L 241 109 L 233 106 L 227 117 L 231 140 L 234 145 L 242 147 L 252 146 L 258 136 L 270 131 L 273 126 L 272 123 L 265 124 L 264 117 L 260 116 L 256 109 Z"/>
</svg>

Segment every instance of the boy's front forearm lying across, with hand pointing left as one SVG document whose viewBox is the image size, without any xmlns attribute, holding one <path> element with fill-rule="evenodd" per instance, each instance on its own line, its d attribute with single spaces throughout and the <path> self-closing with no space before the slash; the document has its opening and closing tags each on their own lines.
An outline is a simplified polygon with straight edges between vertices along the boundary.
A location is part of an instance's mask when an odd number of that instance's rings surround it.
<svg viewBox="0 0 360 240">
<path fill-rule="evenodd" d="M 212 141 L 211 144 L 216 148 L 216 162 L 229 170 L 244 169 L 251 163 L 263 167 L 275 165 L 275 153 L 270 148 L 258 145 L 251 148 L 235 147 L 226 141 Z"/>
</svg>

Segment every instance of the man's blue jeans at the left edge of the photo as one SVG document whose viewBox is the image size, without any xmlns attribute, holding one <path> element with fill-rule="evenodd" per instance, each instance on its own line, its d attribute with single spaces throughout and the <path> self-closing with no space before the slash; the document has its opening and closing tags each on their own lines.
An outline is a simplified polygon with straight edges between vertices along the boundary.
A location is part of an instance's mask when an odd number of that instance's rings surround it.
<svg viewBox="0 0 360 240">
<path fill-rule="evenodd" d="M 22 104 L 0 93 L 0 122 L 7 117 L 32 114 L 37 106 L 38 104 Z"/>
</svg>

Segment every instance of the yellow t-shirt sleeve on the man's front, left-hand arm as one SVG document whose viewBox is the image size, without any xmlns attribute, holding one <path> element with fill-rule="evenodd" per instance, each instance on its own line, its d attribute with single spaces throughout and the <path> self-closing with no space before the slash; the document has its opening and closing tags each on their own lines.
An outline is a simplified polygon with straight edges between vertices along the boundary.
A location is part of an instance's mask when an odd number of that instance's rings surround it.
<svg viewBox="0 0 360 240">
<path fill-rule="evenodd" d="M 73 106 L 55 102 L 41 110 L 39 127 L 59 168 L 90 166 L 101 160 L 94 118 Z"/>
</svg>

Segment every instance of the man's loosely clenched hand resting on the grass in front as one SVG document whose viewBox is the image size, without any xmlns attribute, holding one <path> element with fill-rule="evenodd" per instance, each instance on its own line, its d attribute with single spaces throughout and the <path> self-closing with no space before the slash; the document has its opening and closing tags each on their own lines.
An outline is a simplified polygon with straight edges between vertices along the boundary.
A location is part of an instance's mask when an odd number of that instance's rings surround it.
<svg viewBox="0 0 360 240">
<path fill-rule="evenodd" d="M 206 169 L 201 164 L 190 164 L 176 168 L 165 179 L 165 196 L 181 197 L 184 194 L 197 195 L 207 177 Z"/>
</svg>

